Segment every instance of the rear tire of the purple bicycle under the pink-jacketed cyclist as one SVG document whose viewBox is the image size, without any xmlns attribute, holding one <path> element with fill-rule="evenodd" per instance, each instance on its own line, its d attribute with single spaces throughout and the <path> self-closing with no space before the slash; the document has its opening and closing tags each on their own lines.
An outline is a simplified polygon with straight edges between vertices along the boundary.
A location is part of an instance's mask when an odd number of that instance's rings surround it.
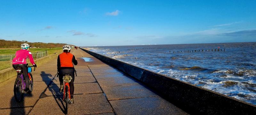
<svg viewBox="0 0 256 115">
<path fill-rule="evenodd" d="M 20 78 L 16 78 L 15 83 L 14 83 L 14 88 L 13 88 L 13 92 L 14 92 L 14 97 L 16 102 L 21 102 L 23 99 L 23 94 L 22 93 L 22 80 Z"/>
</svg>

